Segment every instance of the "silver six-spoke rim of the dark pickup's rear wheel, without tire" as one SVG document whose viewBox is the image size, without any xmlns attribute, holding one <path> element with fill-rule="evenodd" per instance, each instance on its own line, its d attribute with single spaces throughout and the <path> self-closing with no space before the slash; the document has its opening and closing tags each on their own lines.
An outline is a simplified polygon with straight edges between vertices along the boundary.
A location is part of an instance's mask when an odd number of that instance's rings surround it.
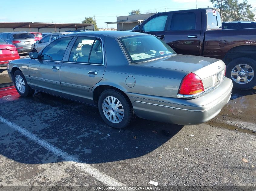
<svg viewBox="0 0 256 191">
<path fill-rule="evenodd" d="M 231 78 L 238 84 L 246 84 L 254 77 L 254 71 L 248 64 L 238 64 L 231 70 Z"/>
</svg>

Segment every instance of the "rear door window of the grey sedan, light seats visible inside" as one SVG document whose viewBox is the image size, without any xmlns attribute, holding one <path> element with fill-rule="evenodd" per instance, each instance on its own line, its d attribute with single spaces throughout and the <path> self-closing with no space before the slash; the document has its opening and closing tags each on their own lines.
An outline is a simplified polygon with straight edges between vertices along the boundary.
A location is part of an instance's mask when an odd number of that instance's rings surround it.
<svg viewBox="0 0 256 191">
<path fill-rule="evenodd" d="M 78 37 L 72 47 L 69 62 L 102 64 L 101 40 L 94 37 Z"/>
</svg>

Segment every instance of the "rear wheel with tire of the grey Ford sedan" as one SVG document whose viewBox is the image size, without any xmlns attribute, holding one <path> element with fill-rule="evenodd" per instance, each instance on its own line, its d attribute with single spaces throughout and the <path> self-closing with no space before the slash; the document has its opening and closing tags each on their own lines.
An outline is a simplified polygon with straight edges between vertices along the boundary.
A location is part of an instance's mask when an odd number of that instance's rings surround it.
<svg viewBox="0 0 256 191">
<path fill-rule="evenodd" d="M 130 100 L 118 90 L 103 91 L 98 100 L 98 109 L 105 123 L 116 129 L 124 129 L 135 119 Z"/>
</svg>

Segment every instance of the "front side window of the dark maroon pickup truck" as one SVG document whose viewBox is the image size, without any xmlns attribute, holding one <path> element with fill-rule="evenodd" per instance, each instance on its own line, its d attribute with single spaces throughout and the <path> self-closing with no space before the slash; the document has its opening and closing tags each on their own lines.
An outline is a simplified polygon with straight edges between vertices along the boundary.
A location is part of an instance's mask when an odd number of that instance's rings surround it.
<svg viewBox="0 0 256 191">
<path fill-rule="evenodd" d="M 144 32 L 164 31 L 167 17 L 168 15 L 161 15 L 161 16 L 152 18 L 146 24 L 143 25 L 142 31 Z"/>
</svg>

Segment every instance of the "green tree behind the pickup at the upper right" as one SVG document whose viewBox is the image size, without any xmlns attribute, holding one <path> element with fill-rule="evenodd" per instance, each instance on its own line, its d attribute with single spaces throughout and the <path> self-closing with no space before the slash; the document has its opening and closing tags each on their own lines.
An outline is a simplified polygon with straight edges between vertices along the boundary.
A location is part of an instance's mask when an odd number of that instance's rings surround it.
<svg viewBox="0 0 256 191">
<path fill-rule="evenodd" d="M 247 0 L 238 3 L 238 0 L 210 0 L 214 8 L 219 11 L 222 21 L 253 21 L 252 6 Z"/>
</svg>

